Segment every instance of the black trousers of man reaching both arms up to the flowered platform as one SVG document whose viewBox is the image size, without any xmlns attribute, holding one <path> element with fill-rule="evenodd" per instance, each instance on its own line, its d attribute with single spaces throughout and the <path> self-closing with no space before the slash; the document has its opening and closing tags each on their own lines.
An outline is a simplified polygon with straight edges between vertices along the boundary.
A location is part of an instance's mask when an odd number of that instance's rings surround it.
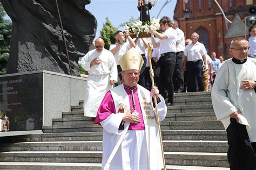
<svg viewBox="0 0 256 170">
<path fill-rule="evenodd" d="M 158 60 L 154 76 L 156 77 L 156 83 L 160 94 L 166 95 L 165 89 L 168 91 L 168 102 L 173 103 L 173 72 L 176 65 L 176 53 L 170 53 L 169 55 L 161 56 Z M 162 79 L 164 78 L 164 79 Z"/>
</svg>

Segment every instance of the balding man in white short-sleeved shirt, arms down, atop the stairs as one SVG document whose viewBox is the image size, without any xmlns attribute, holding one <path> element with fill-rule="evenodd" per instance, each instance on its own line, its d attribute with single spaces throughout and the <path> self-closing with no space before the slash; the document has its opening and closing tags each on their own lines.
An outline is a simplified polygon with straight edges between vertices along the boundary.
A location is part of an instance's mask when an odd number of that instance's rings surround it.
<svg viewBox="0 0 256 170">
<path fill-rule="evenodd" d="M 183 70 L 186 72 L 187 92 L 204 91 L 202 76 L 206 67 L 207 51 L 204 44 L 198 42 L 199 34 L 194 32 L 191 35 L 192 44 L 186 46 L 184 51 Z M 202 67 L 203 66 L 203 67 Z"/>
</svg>

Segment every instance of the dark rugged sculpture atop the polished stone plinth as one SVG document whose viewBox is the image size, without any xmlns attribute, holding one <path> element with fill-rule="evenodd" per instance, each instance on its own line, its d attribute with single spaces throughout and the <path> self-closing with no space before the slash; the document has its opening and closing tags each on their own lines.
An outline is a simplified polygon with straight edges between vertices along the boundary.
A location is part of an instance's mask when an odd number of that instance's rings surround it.
<svg viewBox="0 0 256 170">
<path fill-rule="evenodd" d="M 72 75 L 79 75 L 77 61 L 89 51 L 97 21 L 85 5 L 90 0 L 58 1 Z M 56 1 L 2 0 L 12 19 L 11 52 L 6 72 L 49 70 L 69 74 Z"/>
</svg>

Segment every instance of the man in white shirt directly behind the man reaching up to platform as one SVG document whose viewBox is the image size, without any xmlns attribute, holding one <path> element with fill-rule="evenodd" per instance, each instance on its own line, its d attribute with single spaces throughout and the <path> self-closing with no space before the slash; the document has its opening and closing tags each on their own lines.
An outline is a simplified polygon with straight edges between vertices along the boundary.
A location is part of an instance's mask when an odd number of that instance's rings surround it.
<svg viewBox="0 0 256 170">
<path fill-rule="evenodd" d="M 184 89 L 184 75 L 182 71 L 183 59 L 184 59 L 184 50 L 185 50 L 185 36 L 184 32 L 179 29 L 177 20 L 171 21 L 172 27 L 177 31 L 177 40 L 176 40 L 176 65 L 173 73 L 173 82 L 174 82 L 174 91 L 176 93 L 183 92 Z"/>
</svg>

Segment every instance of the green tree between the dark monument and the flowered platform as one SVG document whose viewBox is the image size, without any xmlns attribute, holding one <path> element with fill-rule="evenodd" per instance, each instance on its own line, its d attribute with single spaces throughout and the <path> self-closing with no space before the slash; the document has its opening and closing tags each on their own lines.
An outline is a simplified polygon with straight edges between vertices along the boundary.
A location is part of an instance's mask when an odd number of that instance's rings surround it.
<svg viewBox="0 0 256 170">
<path fill-rule="evenodd" d="M 103 28 L 100 31 L 100 36 L 105 42 L 106 49 L 109 49 L 109 46 L 116 42 L 116 39 L 114 39 L 114 33 L 116 33 L 116 31 L 117 28 L 114 27 L 109 18 L 106 17 L 106 22 L 103 24 Z"/>
</svg>

